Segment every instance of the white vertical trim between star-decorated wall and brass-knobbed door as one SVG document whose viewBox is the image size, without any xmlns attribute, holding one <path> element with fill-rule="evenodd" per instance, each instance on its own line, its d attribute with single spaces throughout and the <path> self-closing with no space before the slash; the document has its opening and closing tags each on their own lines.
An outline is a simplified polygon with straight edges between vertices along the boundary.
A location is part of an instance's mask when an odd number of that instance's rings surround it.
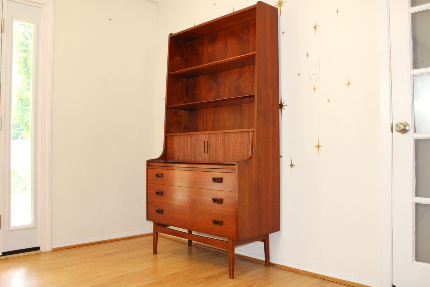
<svg viewBox="0 0 430 287">
<path fill-rule="evenodd" d="M 381 286 L 393 286 L 393 136 L 389 0 L 378 0 L 381 73 Z"/>
</svg>

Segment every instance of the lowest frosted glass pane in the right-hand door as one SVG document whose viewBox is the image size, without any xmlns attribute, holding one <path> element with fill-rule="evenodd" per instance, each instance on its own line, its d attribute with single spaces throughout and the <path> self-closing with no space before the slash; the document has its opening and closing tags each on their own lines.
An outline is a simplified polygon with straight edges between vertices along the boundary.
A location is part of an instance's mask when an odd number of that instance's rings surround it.
<svg viewBox="0 0 430 287">
<path fill-rule="evenodd" d="M 429 204 L 415 204 L 415 261 L 430 263 Z"/>
</svg>

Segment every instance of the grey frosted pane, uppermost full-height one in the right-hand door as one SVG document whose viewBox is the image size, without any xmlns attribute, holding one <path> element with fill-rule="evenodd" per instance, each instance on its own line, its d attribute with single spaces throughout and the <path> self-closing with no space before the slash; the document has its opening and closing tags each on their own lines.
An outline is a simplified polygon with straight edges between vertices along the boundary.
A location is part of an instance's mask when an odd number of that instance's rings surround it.
<svg viewBox="0 0 430 287">
<path fill-rule="evenodd" d="M 413 68 L 430 67 L 430 10 L 411 14 Z"/>
</svg>

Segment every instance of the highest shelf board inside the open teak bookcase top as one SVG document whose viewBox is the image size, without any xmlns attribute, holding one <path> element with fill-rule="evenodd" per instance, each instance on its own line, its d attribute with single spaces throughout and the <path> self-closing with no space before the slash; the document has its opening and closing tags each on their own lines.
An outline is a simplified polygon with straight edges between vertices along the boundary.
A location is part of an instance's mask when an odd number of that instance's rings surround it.
<svg viewBox="0 0 430 287">
<path fill-rule="evenodd" d="M 169 75 L 181 78 L 194 78 L 198 76 L 223 72 L 230 69 L 236 69 L 251 65 L 255 65 L 255 52 L 200 66 L 194 66 L 175 72 L 170 72 Z"/>
</svg>

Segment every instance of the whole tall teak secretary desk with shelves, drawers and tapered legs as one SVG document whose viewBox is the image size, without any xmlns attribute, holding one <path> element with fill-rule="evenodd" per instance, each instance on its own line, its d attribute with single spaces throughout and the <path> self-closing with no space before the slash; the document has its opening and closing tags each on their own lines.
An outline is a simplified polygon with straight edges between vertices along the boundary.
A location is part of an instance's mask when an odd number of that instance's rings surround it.
<svg viewBox="0 0 430 287">
<path fill-rule="evenodd" d="M 279 231 L 277 9 L 263 2 L 169 35 L 164 149 L 147 161 L 158 233 L 228 251 Z M 169 227 L 184 228 L 187 232 Z M 204 237 L 201 234 L 226 238 Z"/>
</svg>

